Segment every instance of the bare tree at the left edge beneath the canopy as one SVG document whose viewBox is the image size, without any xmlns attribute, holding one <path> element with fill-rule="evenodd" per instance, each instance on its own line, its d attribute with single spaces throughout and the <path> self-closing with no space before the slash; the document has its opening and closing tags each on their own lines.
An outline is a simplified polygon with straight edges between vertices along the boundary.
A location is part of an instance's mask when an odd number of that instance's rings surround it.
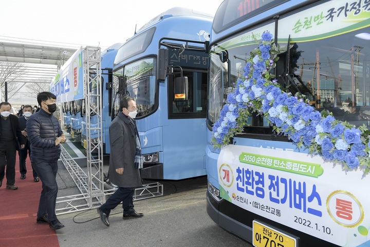
<svg viewBox="0 0 370 247">
<path fill-rule="evenodd" d="M 8 92 L 15 92 L 17 85 L 13 81 L 25 74 L 26 67 L 23 63 L 0 61 L 0 89 L 1 98 L 5 100 L 5 82 L 7 82 Z M 13 100 L 17 97 L 13 96 Z"/>
</svg>

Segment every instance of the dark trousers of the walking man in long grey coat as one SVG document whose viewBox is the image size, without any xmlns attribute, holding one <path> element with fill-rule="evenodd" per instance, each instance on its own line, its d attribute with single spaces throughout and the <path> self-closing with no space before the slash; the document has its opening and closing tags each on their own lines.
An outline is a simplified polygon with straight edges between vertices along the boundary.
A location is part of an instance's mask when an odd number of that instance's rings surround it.
<svg viewBox="0 0 370 247">
<path fill-rule="evenodd" d="M 122 202 L 123 214 L 134 213 L 134 196 L 135 188 L 118 187 L 116 192 L 100 207 L 100 210 L 109 215 L 110 210 L 114 209 Z"/>
</svg>

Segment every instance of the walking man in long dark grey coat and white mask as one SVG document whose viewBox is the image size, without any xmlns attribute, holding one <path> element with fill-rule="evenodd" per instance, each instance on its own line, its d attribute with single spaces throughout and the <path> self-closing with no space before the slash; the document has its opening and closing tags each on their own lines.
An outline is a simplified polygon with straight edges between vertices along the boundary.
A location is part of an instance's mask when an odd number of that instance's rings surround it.
<svg viewBox="0 0 370 247">
<path fill-rule="evenodd" d="M 141 213 L 134 209 L 135 188 L 142 187 L 139 169 L 142 168 L 141 146 L 135 120 L 136 102 L 124 97 L 120 102 L 120 112 L 109 127 L 110 158 L 109 181 L 118 189 L 98 208 L 102 222 L 109 226 L 109 213 L 122 202 L 123 219 L 140 218 Z"/>
</svg>

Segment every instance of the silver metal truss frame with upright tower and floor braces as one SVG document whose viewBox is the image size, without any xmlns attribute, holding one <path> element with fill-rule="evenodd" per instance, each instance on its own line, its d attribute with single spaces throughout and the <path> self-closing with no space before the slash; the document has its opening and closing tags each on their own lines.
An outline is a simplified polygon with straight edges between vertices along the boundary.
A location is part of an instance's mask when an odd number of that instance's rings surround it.
<svg viewBox="0 0 370 247">
<path fill-rule="evenodd" d="M 63 146 L 61 146 L 62 162 L 81 193 L 57 198 L 57 215 L 98 207 L 105 202 L 106 196 L 114 193 L 116 189 L 104 182 L 100 47 L 86 46 L 84 48 L 83 73 L 86 112 L 87 174 L 70 157 Z M 94 115 L 97 116 L 98 121 L 91 124 L 91 116 Z M 91 139 L 91 134 L 97 135 L 97 138 L 94 138 L 94 142 Z M 151 183 L 135 189 L 134 200 L 159 196 L 163 196 L 163 185 L 160 183 Z"/>
</svg>

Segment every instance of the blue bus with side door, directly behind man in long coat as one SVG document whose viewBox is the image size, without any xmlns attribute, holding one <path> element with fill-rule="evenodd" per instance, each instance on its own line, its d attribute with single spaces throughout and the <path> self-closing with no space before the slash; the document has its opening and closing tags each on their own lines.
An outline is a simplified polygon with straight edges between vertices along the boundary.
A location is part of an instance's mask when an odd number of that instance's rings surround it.
<svg viewBox="0 0 370 247">
<path fill-rule="evenodd" d="M 144 179 L 206 175 L 211 24 L 208 14 L 172 8 L 146 23 L 117 52 L 112 118 L 121 110 L 122 97 L 136 100 Z"/>
</svg>

